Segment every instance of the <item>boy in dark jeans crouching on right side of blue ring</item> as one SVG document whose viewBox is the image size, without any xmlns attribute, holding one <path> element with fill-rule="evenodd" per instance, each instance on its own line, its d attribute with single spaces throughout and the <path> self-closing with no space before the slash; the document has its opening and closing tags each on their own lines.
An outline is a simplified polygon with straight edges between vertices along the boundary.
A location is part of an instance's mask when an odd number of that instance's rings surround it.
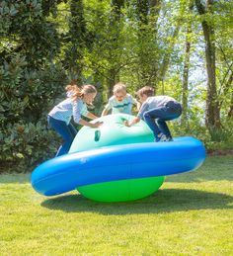
<svg viewBox="0 0 233 256">
<path fill-rule="evenodd" d="M 149 86 L 144 86 L 137 92 L 142 106 L 137 117 L 124 124 L 126 127 L 131 127 L 144 119 L 148 127 L 152 129 L 156 142 L 172 141 L 173 138 L 166 121 L 179 118 L 182 115 L 182 106 L 172 97 L 165 95 L 153 97 L 153 94 L 154 90 Z"/>
</svg>

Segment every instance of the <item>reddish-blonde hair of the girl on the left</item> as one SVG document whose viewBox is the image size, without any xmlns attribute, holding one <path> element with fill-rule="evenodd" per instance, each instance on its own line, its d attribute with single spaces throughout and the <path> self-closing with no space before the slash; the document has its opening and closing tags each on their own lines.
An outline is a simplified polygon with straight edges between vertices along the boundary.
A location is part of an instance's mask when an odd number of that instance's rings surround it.
<svg viewBox="0 0 233 256">
<path fill-rule="evenodd" d="M 67 85 L 65 87 L 65 90 L 67 92 L 72 93 L 72 100 L 76 101 L 79 98 L 82 98 L 85 94 L 92 94 L 92 93 L 97 93 L 97 89 L 94 85 L 91 84 L 85 84 L 81 88 L 78 87 L 78 85 L 73 84 L 73 85 Z"/>
</svg>

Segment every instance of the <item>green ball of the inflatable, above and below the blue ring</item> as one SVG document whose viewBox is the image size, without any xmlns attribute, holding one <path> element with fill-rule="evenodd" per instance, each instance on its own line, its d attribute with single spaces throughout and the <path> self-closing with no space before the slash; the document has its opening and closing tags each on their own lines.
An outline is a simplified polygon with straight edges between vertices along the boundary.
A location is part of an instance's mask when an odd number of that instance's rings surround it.
<svg viewBox="0 0 233 256">
<path fill-rule="evenodd" d="M 124 126 L 124 121 L 130 121 L 133 118 L 133 116 L 125 114 L 99 118 L 96 121 L 102 121 L 104 124 L 100 128 L 81 128 L 70 147 L 69 153 L 103 146 L 153 141 L 153 133 L 143 121 L 131 128 Z M 98 202 L 126 202 L 153 194 L 162 186 L 164 180 L 164 176 L 119 180 L 82 186 L 78 187 L 77 190 L 84 197 Z"/>
</svg>

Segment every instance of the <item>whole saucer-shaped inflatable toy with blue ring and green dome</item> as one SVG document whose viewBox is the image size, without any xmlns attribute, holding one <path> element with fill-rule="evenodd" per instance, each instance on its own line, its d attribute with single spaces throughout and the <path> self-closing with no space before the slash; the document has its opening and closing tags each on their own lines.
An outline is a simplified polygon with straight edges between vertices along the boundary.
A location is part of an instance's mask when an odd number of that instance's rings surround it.
<svg viewBox="0 0 233 256">
<path fill-rule="evenodd" d="M 205 158 L 194 137 L 152 142 L 144 122 L 127 128 L 128 115 L 100 118 L 100 128 L 81 128 L 68 154 L 48 160 L 33 172 L 32 185 L 44 196 L 77 189 L 99 202 L 137 200 L 156 192 L 165 176 L 198 168 Z"/>
</svg>

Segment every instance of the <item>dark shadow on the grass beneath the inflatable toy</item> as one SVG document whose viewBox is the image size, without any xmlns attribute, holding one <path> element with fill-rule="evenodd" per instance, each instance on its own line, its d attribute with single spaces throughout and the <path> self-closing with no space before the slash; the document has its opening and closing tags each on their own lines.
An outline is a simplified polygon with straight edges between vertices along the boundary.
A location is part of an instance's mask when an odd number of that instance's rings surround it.
<svg viewBox="0 0 233 256">
<path fill-rule="evenodd" d="M 174 213 L 189 210 L 233 209 L 233 197 L 198 190 L 167 189 L 143 200 L 127 203 L 97 203 L 81 195 L 48 199 L 41 206 L 66 213 L 93 212 L 103 214 Z"/>
</svg>

